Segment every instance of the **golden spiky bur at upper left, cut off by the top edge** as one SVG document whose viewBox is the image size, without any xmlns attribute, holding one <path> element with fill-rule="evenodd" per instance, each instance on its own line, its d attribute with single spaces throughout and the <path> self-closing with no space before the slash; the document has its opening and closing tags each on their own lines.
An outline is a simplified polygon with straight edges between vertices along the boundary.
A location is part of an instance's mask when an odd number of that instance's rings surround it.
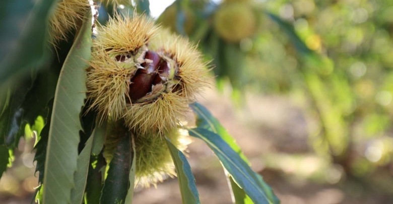
<svg viewBox="0 0 393 204">
<path fill-rule="evenodd" d="M 58 1 L 53 14 L 49 17 L 49 41 L 57 44 L 60 40 L 67 40 L 67 34 L 76 29 L 82 21 L 84 12 L 90 8 L 89 1 L 62 0 Z"/>
</svg>

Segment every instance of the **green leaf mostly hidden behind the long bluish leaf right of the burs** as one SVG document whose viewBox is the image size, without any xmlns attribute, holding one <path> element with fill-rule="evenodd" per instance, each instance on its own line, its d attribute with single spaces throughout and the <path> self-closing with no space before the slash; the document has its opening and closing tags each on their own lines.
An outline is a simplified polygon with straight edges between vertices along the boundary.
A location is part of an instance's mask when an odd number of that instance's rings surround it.
<svg viewBox="0 0 393 204">
<path fill-rule="evenodd" d="M 220 137 L 235 151 L 240 158 L 242 158 L 247 164 L 249 161 L 241 151 L 240 147 L 236 144 L 235 140 L 231 137 L 228 131 L 220 124 L 220 122 L 206 109 L 203 105 L 199 103 L 193 103 L 190 105 L 194 113 L 197 114 L 197 125 L 198 127 L 208 129 L 214 133 L 220 135 Z M 226 171 L 226 170 L 225 170 Z M 232 189 L 232 198 L 234 203 L 249 203 L 251 199 L 248 195 L 241 189 L 233 178 L 226 172 L 228 185 Z"/>
</svg>

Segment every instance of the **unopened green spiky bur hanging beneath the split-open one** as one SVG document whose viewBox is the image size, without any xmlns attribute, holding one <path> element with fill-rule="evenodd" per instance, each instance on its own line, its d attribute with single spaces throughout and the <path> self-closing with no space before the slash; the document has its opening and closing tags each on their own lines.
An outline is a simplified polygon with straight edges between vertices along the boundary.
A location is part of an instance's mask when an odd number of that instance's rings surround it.
<svg viewBox="0 0 393 204">
<path fill-rule="evenodd" d="M 172 144 L 184 151 L 189 144 L 186 135 L 172 130 L 165 134 Z M 174 164 L 163 135 L 136 135 L 136 180 L 137 184 L 149 187 L 161 182 L 167 175 L 175 176 Z"/>
</svg>

